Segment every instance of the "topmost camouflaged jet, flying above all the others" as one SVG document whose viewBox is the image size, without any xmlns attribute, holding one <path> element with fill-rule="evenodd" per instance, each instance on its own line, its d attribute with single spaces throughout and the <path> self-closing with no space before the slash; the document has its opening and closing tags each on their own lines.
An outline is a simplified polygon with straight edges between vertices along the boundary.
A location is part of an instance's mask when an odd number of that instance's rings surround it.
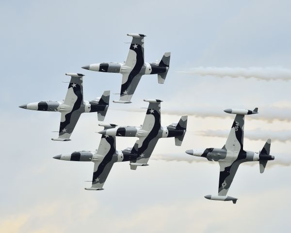
<svg viewBox="0 0 291 233">
<path fill-rule="evenodd" d="M 127 34 L 132 36 L 129 54 L 124 63 L 98 63 L 82 67 L 83 69 L 108 73 L 121 73 L 122 83 L 120 99 L 115 103 L 131 103 L 131 97 L 144 74 L 158 74 L 158 82 L 164 83 L 170 65 L 170 52 L 165 52 L 162 60 L 155 63 L 144 61 L 144 34 Z"/>
</svg>

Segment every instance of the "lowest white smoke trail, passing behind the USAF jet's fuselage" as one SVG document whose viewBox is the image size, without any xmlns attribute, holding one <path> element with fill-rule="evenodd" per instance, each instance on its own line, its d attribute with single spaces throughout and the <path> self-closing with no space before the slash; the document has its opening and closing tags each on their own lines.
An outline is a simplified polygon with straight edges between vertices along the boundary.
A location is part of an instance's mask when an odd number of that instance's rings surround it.
<svg viewBox="0 0 291 233">
<path fill-rule="evenodd" d="M 291 158 L 290 156 L 286 156 L 286 155 L 276 155 L 273 154 L 272 155 L 275 156 L 275 160 L 274 161 L 269 161 L 267 167 L 273 167 L 273 166 L 291 166 Z M 289 157 L 289 158 L 288 158 Z M 176 161 L 176 162 L 187 162 L 187 163 L 216 163 L 213 161 L 208 161 L 206 158 L 198 158 L 195 157 L 193 155 L 187 155 L 186 153 L 184 154 L 183 152 L 180 154 L 155 154 L 151 157 L 151 159 L 153 160 L 163 160 L 163 161 L 167 161 L 167 162 L 171 162 L 171 161 Z M 218 163 L 216 163 L 218 165 Z M 243 165 L 247 165 L 247 166 L 259 166 L 259 162 L 258 163 L 243 163 Z"/>
</svg>

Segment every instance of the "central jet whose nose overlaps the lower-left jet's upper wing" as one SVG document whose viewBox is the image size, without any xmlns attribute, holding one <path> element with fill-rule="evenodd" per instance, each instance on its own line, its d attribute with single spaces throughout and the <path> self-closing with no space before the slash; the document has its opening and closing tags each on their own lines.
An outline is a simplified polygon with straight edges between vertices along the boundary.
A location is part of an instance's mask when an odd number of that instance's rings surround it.
<svg viewBox="0 0 291 233">
<path fill-rule="evenodd" d="M 175 137 L 175 145 L 181 146 L 187 128 L 187 116 L 181 116 L 178 124 L 161 126 L 161 102 L 162 100 L 144 100 L 149 102 L 146 117 L 140 127 L 127 126 L 115 127 L 100 131 L 107 136 L 138 137 L 139 157 L 130 160 L 130 169 L 135 170 L 137 166 L 147 166 L 158 140 L 162 137 Z"/>
</svg>

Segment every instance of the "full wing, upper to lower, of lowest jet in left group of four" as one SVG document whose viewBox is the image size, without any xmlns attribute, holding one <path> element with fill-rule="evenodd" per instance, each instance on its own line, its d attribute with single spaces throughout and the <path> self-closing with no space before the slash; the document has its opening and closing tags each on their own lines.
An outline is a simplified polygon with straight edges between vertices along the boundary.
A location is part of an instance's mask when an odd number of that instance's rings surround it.
<svg viewBox="0 0 291 233">
<path fill-rule="evenodd" d="M 99 147 L 97 150 L 98 158 L 92 159 L 94 162 L 94 172 L 92 178 L 92 187 L 86 188 L 88 190 L 102 190 L 103 184 L 105 183 L 109 172 L 117 157 L 113 157 L 115 153 L 115 137 L 102 135 Z M 104 156 L 102 158 L 102 156 Z"/>
</svg>

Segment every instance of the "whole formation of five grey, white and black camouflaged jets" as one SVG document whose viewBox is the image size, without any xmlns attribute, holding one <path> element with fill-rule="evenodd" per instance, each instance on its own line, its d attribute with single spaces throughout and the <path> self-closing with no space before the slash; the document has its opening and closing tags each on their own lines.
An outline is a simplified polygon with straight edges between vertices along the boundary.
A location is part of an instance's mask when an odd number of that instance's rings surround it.
<svg viewBox="0 0 291 233">
<path fill-rule="evenodd" d="M 132 41 L 129 54 L 124 63 L 98 63 L 84 66 L 87 70 L 121 73 L 122 84 L 120 99 L 115 103 L 131 103 L 131 98 L 137 85 L 144 74 L 157 74 L 158 83 L 164 83 L 170 65 L 170 52 L 165 52 L 162 60 L 155 63 L 144 61 L 144 34 L 129 33 Z M 20 108 L 60 112 L 61 121 L 58 138 L 54 141 L 70 141 L 70 136 L 82 113 L 95 112 L 97 119 L 103 121 L 109 108 L 110 91 L 104 91 L 100 98 L 92 101 L 83 100 L 83 74 L 66 73 L 71 76 L 65 99 L 62 101 L 40 101 L 24 105 Z M 99 147 L 96 151 L 75 151 L 68 154 L 60 154 L 53 158 L 66 161 L 93 162 L 94 171 L 92 186 L 86 190 L 103 190 L 103 185 L 116 162 L 128 161 L 130 169 L 136 170 L 137 166 L 148 166 L 148 160 L 160 138 L 174 137 L 175 145 L 181 146 L 187 129 L 187 116 L 181 116 L 178 123 L 169 126 L 161 125 L 162 100 L 145 99 L 148 102 L 146 117 L 141 126 L 117 127 L 115 124 L 99 124 L 104 129 Z M 245 109 L 226 109 L 226 113 L 236 114 L 226 144 L 222 148 L 207 148 L 186 150 L 186 153 L 198 157 L 205 157 L 209 161 L 217 161 L 220 165 L 218 195 L 207 195 L 210 200 L 231 200 L 236 203 L 237 198 L 227 196 L 228 189 L 234 179 L 240 164 L 250 161 L 258 161 L 260 173 L 263 173 L 267 162 L 274 160 L 270 155 L 271 139 L 268 139 L 262 150 L 253 152 L 243 148 L 244 116 L 258 113 L 258 108 L 253 111 Z M 137 137 L 132 148 L 116 150 L 116 137 Z"/>
</svg>

